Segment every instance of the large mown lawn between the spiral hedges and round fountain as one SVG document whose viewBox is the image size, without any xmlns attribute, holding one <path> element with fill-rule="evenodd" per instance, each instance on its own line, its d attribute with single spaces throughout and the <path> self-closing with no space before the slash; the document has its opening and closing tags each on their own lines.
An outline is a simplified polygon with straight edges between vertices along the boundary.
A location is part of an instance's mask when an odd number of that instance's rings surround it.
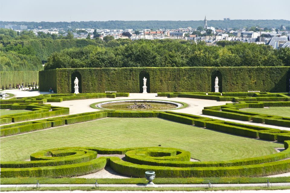
<svg viewBox="0 0 290 193">
<path fill-rule="evenodd" d="M 105 148 L 175 147 L 201 161 L 241 159 L 276 153 L 273 143 L 234 136 L 160 118 L 104 118 L 1 138 L 1 160 L 27 160 L 39 150 L 64 146 Z"/>
</svg>

